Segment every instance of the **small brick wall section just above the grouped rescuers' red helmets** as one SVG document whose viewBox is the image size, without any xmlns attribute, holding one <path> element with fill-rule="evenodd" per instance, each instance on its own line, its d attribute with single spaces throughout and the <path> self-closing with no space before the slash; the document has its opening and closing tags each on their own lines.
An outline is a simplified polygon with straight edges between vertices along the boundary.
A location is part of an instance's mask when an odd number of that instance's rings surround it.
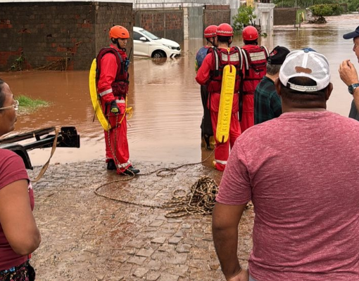
<svg viewBox="0 0 359 281">
<path fill-rule="evenodd" d="M 230 24 L 231 11 L 229 5 L 206 5 L 203 10 L 203 31 L 208 25 Z"/>
</svg>

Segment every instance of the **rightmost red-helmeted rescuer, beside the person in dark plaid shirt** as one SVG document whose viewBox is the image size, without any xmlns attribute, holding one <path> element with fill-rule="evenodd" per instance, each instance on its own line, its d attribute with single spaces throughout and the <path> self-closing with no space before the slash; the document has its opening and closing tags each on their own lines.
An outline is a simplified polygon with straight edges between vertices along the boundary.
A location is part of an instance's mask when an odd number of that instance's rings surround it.
<svg viewBox="0 0 359 281">
<path fill-rule="evenodd" d="M 254 91 L 267 73 L 268 51 L 264 46 L 258 46 L 258 31 L 256 27 L 247 26 L 242 32 L 244 46 L 241 51 L 244 56 L 245 78 L 240 89 L 239 121 L 242 133 L 254 125 Z"/>
</svg>

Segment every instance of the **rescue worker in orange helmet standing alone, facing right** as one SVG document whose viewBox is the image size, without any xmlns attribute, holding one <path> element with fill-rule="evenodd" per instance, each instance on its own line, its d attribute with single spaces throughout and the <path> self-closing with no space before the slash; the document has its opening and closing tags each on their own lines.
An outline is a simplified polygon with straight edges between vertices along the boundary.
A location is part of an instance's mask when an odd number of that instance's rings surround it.
<svg viewBox="0 0 359 281">
<path fill-rule="evenodd" d="M 127 39 L 130 33 L 125 27 L 115 25 L 110 30 L 111 46 L 102 48 L 97 55 L 97 93 L 103 113 L 111 124 L 105 131 L 106 162 L 108 170 L 118 174 L 139 173 L 130 162 L 127 142 L 126 100 L 128 90 L 128 66 L 126 55 Z"/>
</svg>

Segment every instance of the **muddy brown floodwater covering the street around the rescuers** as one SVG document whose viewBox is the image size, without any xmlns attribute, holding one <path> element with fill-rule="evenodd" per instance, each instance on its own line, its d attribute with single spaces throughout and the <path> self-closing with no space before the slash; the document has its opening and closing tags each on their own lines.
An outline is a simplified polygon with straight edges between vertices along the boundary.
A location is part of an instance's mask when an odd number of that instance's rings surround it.
<svg viewBox="0 0 359 281">
<path fill-rule="evenodd" d="M 328 108 L 347 116 L 351 96 L 337 70 L 346 58 L 356 63 L 352 41 L 342 39 L 342 34 L 355 28 L 358 17 L 358 14 L 328 17 L 326 25 L 302 25 L 298 30 L 294 26 L 277 27 L 262 38 L 261 44 L 268 50 L 277 45 L 290 50 L 310 46 L 325 54 L 332 67 L 334 84 Z M 202 109 L 199 85 L 194 79 L 194 57 L 202 45 L 202 39 L 182 42 L 184 51 L 177 59 L 134 59 L 129 93 L 134 114 L 128 129 L 132 161 L 199 162 L 207 155 L 200 149 Z M 232 45 L 242 45 L 239 37 L 234 38 Z M 51 103 L 50 107 L 18 118 L 15 133 L 45 126 L 77 127 L 81 148 L 59 148 L 52 163 L 103 159 L 103 132 L 96 119 L 92 122 L 94 112 L 87 71 L 3 72 L 0 77 L 10 84 L 15 95 L 42 98 Z M 47 149 L 30 152 L 32 164 L 43 164 L 48 155 Z"/>
</svg>

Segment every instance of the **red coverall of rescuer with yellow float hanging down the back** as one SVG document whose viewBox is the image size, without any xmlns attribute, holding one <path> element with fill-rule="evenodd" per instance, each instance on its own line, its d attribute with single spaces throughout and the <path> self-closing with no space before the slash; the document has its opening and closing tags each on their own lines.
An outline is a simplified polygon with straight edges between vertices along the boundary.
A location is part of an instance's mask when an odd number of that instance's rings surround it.
<svg viewBox="0 0 359 281">
<path fill-rule="evenodd" d="M 231 48 L 232 50 L 233 48 Z M 199 71 L 196 75 L 196 81 L 201 85 L 208 85 L 210 81 L 210 71 L 215 70 L 215 58 L 213 53 L 208 53 L 206 58 L 204 58 L 201 67 L 199 67 Z M 238 88 L 239 81 L 236 81 L 236 85 Z M 236 88 L 236 87 L 235 87 Z M 236 91 L 237 90 L 237 91 Z M 208 108 L 210 110 L 210 119 L 212 121 L 213 128 L 213 136 L 215 136 L 217 131 L 217 122 L 218 122 L 218 110 L 220 106 L 220 91 L 209 92 L 210 98 L 208 98 Z M 233 96 L 233 105 L 232 105 L 232 116 L 231 123 L 229 126 L 229 141 L 225 143 L 220 143 L 215 138 L 215 169 L 219 171 L 224 171 L 225 166 L 227 164 L 227 159 L 229 157 L 229 145 L 230 148 L 233 147 L 234 141 L 237 140 L 239 135 L 241 134 L 241 127 L 239 126 L 238 120 L 238 109 L 239 109 L 239 95 L 238 89 L 234 90 Z"/>
</svg>

